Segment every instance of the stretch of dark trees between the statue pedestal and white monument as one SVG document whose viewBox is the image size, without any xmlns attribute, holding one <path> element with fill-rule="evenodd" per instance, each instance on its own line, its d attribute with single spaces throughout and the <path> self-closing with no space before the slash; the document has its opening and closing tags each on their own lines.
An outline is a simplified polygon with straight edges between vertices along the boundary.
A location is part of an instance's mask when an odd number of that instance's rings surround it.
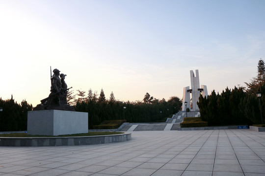
<svg viewBox="0 0 265 176">
<path fill-rule="evenodd" d="M 169 114 L 178 112 L 182 106 L 182 101 L 176 96 L 166 101 L 151 97 L 148 92 L 142 101 L 137 102 L 115 100 L 113 92 L 110 93 L 109 99 L 106 99 L 103 89 L 99 96 L 95 92 L 92 93 L 91 88 L 87 96 L 85 91 L 79 92 L 78 96 L 76 110 L 88 112 L 90 129 L 104 120 L 126 120 L 131 123 L 165 122 Z"/>
</svg>

